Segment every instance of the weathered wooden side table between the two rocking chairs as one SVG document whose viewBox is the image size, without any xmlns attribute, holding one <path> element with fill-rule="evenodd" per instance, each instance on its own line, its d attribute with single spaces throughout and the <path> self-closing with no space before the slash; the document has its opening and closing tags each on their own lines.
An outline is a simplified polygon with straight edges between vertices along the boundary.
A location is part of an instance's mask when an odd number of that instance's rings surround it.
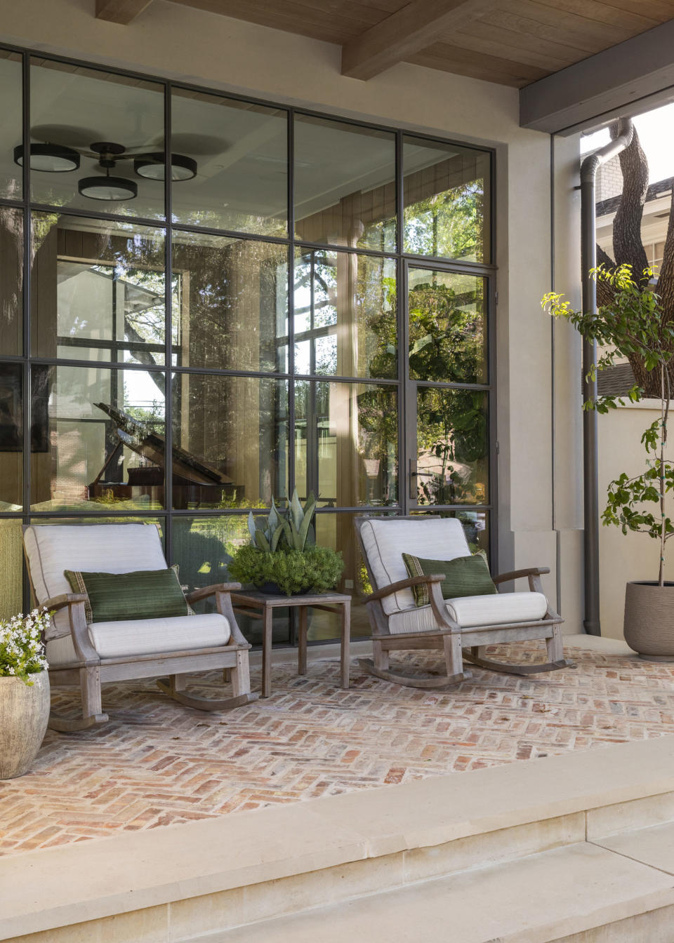
<svg viewBox="0 0 674 943">
<path fill-rule="evenodd" d="M 258 589 L 233 592 L 234 612 L 262 620 L 262 697 L 272 693 L 272 618 L 275 609 L 297 609 L 299 638 L 297 673 L 307 673 L 307 609 L 325 609 L 342 614 L 341 676 L 342 687 L 348 687 L 348 659 L 351 641 L 351 597 L 339 592 L 321 592 L 305 596 L 271 596 Z"/>
</svg>

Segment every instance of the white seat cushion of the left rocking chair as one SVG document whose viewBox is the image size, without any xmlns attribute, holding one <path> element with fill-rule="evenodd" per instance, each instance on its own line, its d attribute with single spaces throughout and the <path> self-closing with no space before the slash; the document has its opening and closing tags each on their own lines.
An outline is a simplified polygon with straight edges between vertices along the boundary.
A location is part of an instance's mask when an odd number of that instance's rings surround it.
<svg viewBox="0 0 674 943">
<path fill-rule="evenodd" d="M 89 637 L 101 658 L 215 648 L 227 645 L 229 636 L 229 622 L 217 612 L 171 619 L 93 622 L 89 626 Z M 47 642 L 47 661 L 52 668 L 77 660 L 70 635 Z"/>
</svg>

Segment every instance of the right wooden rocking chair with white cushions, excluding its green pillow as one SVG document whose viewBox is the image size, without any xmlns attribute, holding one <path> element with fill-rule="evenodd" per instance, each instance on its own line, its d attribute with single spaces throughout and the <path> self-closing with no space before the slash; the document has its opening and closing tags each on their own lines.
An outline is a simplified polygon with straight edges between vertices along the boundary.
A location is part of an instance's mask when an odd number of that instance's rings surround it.
<svg viewBox="0 0 674 943">
<path fill-rule="evenodd" d="M 509 674 L 532 674 L 570 667 L 564 659 L 561 626 L 543 593 L 541 575 L 548 568 L 502 573 L 493 577 L 499 591 L 488 596 L 443 599 L 444 576 L 409 576 L 402 554 L 452 560 L 468 556 L 461 521 L 455 518 L 355 519 L 356 532 L 372 587 L 365 606 L 372 628 L 373 659 L 360 659 L 370 674 L 409 687 L 452 687 L 469 678 L 463 661 Z M 527 577 L 528 592 L 501 592 L 500 586 Z M 430 604 L 414 604 L 413 587 L 429 587 Z M 545 639 L 548 661 L 541 665 L 513 665 L 485 657 L 486 647 L 502 642 Z M 415 649 L 444 654 L 445 673 L 402 671 L 389 667 L 391 652 Z M 465 649 L 468 649 L 466 652 Z"/>
</svg>

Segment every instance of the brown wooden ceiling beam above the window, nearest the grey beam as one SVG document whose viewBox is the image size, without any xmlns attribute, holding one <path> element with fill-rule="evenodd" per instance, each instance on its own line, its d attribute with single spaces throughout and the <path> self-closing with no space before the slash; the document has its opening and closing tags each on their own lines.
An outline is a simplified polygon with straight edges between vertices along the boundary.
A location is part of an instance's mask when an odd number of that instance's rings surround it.
<svg viewBox="0 0 674 943">
<path fill-rule="evenodd" d="M 412 0 L 342 46 L 342 74 L 373 78 L 494 6 L 495 0 Z"/>
</svg>

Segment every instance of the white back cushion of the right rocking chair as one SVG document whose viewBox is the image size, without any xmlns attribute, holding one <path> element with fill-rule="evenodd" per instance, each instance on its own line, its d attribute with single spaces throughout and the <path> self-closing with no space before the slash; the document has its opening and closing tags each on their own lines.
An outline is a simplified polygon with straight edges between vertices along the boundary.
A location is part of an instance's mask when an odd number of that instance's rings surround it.
<svg viewBox="0 0 674 943">
<path fill-rule="evenodd" d="M 429 560 L 453 560 L 470 554 L 461 521 L 456 518 L 373 518 L 362 522 L 361 537 L 377 589 L 409 577 L 402 554 Z M 409 609 L 414 605 L 412 589 L 387 596 L 381 604 L 387 615 Z"/>
</svg>

